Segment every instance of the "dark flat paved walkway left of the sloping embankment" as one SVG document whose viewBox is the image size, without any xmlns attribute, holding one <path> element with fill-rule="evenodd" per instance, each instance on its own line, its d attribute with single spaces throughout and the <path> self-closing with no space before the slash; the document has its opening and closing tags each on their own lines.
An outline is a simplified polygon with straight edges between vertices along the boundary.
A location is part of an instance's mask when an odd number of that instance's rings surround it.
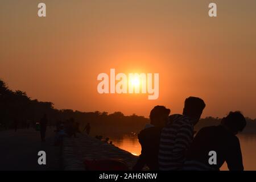
<svg viewBox="0 0 256 182">
<path fill-rule="evenodd" d="M 48 129 L 46 142 L 34 129 L 0 131 L 0 170 L 60 170 L 60 147 L 53 146 L 53 129 Z M 46 165 L 38 164 L 38 151 L 46 151 Z"/>
</svg>

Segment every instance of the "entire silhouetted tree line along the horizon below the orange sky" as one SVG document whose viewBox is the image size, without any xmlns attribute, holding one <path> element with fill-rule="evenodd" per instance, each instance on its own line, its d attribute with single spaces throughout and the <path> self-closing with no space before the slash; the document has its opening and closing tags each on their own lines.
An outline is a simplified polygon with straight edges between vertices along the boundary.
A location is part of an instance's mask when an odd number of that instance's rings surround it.
<svg viewBox="0 0 256 182">
<path fill-rule="evenodd" d="M 34 125 L 40 121 L 44 114 L 48 115 L 48 125 L 55 125 L 57 121 L 66 121 L 74 118 L 80 123 L 80 130 L 90 123 L 93 133 L 127 133 L 140 131 L 149 122 L 148 118 L 138 115 L 123 115 L 121 112 L 108 114 L 106 112 L 81 112 L 71 109 L 55 109 L 52 102 L 40 102 L 32 100 L 26 92 L 10 90 L 7 84 L 0 80 L 0 127 L 10 129 L 14 127 L 14 121 L 18 127 L 26 127 L 30 122 Z M 196 129 L 204 126 L 218 125 L 220 118 L 207 117 L 200 120 Z M 256 119 L 247 118 L 245 133 L 255 133 Z"/>
</svg>

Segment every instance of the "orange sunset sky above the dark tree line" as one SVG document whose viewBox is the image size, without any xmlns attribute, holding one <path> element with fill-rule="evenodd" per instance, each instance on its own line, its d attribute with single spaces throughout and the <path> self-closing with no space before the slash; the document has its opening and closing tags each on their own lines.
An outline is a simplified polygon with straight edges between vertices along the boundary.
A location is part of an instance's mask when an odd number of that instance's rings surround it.
<svg viewBox="0 0 256 182">
<path fill-rule="evenodd" d="M 47 16 L 38 17 L 38 3 Z M 208 16 L 210 2 L 217 17 Z M 0 78 L 57 109 L 148 117 L 203 98 L 203 117 L 256 118 L 256 1 L 1 0 Z M 159 98 L 99 94 L 97 76 L 159 73 Z"/>
</svg>

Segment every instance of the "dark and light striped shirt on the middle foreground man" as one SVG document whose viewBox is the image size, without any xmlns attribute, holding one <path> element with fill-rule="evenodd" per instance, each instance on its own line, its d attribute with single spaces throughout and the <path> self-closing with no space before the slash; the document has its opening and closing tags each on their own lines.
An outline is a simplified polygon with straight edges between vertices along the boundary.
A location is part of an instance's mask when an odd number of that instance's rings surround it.
<svg viewBox="0 0 256 182">
<path fill-rule="evenodd" d="M 193 139 L 193 123 L 185 115 L 174 114 L 162 129 L 159 146 L 159 169 L 172 171 L 182 169 L 185 151 Z"/>
</svg>

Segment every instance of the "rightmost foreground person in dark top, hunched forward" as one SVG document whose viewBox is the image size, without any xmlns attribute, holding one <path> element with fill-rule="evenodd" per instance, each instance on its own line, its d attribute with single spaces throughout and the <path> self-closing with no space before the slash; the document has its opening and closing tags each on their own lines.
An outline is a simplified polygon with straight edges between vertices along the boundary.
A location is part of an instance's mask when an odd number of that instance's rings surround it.
<svg viewBox="0 0 256 182">
<path fill-rule="evenodd" d="M 240 111 L 230 112 L 222 119 L 221 125 L 201 129 L 188 150 L 185 170 L 219 170 L 226 162 L 229 170 L 243 170 L 242 153 L 238 131 L 246 126 L 245 117 Z M 215 151 L 216 164 L 209 164 L 209 152 Z"/>
</svg>

